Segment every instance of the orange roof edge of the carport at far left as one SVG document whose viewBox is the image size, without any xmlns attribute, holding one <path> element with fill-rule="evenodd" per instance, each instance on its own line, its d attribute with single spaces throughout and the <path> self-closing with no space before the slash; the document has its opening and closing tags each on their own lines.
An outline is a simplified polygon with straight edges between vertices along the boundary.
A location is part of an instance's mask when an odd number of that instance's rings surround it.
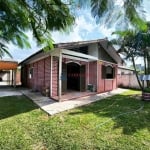
<svg viewBox="0 0 150 150">
<path fill-rule="evenodd" d="M 17 69 L 18 63 L 14 61 L 0 60 L 0 70 L 13 70 Z"/>
</svg>

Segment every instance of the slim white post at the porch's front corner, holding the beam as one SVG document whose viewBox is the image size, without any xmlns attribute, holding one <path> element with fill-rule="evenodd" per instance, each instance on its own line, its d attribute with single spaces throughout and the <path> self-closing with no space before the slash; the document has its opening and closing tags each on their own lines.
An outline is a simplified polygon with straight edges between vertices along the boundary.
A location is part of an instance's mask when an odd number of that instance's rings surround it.
<svg viewBox="0 0 150 150">
<path fill-rule="evenodd" d="M 59 54 L 59 83 L 58 83 L 59 102 L 61 101 L 61 93 L 62 93 L 62 53 L 60 51 L 60 54 Z"/>
</svg>

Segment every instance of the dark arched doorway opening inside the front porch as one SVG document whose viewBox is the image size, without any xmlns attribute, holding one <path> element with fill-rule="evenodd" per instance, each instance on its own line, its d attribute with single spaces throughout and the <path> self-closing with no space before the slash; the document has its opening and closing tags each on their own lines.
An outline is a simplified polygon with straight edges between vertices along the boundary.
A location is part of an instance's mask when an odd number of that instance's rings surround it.
<svg viewBox="0 0 150 150">
<path fill-rule="evenodd" d="M 74 62 L 67 64 L 67 89 L 80 91 L 80 65 Z"/>
</svg>

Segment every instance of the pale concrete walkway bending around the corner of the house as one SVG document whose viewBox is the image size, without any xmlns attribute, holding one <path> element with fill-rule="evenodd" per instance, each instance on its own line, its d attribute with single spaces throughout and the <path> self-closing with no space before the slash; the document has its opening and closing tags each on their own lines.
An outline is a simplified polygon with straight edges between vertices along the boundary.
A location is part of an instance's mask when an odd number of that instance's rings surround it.
<svg viewBox="0 0 150 150">
<path fill-rule="evenodd" d="M 78 99 L 68 100 L 64 102 L 56 102 L 48 97 L 42 96 L 40 93 L 30 92 L 29 90 L 23 90 L 22 93 L 28 98 L 32 99 L 42 110 L 44 110 L 49 115 L 54 115 L 69 109 L 73 109 L 79 106 L 87 105 L 103 98 L 110 97 L 116 94 L 121 94 L 127 91 L 127 89 L 116 89 L 111 92 L 106 92 L 102 94 L 96 94 L 91 96 L 86 96 Z"/>
</svg>

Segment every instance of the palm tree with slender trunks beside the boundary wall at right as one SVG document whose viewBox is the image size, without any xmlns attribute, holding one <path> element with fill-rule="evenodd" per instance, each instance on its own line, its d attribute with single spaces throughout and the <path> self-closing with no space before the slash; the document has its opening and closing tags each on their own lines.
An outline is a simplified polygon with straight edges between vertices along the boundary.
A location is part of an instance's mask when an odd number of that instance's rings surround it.
<svg viewBox="0 0 150 150">
<path fill-rule="evenodd" d="M 150 27 L 150 24 L 147 23 L 147 26 Z M 147 31 L 116 31 L 114 34 L 119 35 L 119 37 L 118 39 L 112 40 L 112 43 L 120 45 L 118 53 L 124 54 L 126 59 L 130 59 L 132 61 L 139 86 L 143 89 L 138 78 L 135 58 L 143 58 L 145 66 L 144 74 L 150 74 L 150 28 L 148 28 Z M 147 82 L 147 86 L 149 86 L 149 82 Z"/>
</svg>

